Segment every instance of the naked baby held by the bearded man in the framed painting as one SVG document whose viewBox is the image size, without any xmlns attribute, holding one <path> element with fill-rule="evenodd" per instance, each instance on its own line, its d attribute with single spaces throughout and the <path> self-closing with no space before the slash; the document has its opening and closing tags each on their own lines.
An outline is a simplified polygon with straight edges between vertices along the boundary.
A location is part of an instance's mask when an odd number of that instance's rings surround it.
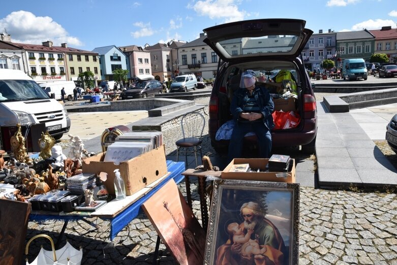
<svg viewBox="0 0 397 265">
<path fill-rule="evenodd" d="M 255 258 L 260 258 L 267 251 L 266 247 L 260 248 L 257 240 L 251 239 L 253 229 L 248 229 L 247 234 L 244 234 L 238 223 L 231 223 L 227 226 L 227 231 L 233 239 L 233 243 L 242 244 L 241 254 L 243 256 L 255 255 Z"/>
</svg>

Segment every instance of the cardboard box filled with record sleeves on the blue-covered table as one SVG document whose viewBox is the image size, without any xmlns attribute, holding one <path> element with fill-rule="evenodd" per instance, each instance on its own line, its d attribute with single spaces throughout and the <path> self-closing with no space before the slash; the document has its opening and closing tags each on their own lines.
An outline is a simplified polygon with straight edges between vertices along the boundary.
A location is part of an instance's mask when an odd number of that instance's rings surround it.
<svg viewBox="0 0 397 265">
<path fill-rule="evenodd" d="M 106 172 L 108 175 L 105 186 L 109 194 L 114 194 L 115 174 L 113 170 L 117 168 L 120 169 L 121 178 L 126 185 L 127 195 L 134 194 L 167 174 L 164 145 L 121 162 L 119 165 L 115 165 L 113 162 L 103 162 L 105 154 L 106 152 L 84 159 L 82 170 L 83 173 L 98 174 L 99 172 Z"/>
</svg>

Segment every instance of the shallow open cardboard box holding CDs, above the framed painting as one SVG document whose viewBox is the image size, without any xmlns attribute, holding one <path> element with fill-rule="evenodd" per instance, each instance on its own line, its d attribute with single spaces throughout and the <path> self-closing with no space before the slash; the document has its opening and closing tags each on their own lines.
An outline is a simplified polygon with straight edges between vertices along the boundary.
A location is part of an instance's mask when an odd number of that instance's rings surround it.
<svg viewBox="0 0 397 265">
<path fill-rule="evenodd" d="M 225 180 L 248 180 L 295 183 L 295 159 L 292 159 L 292 169 L 289 172 L 229 172 L 234 164 L 249 163 L 251 168 L 265 169 L 269 159 L 267 158 L 235 158 L 221 173 Z M 290 163 L 291 164 L 291 163 Z M 278 178 L 276 174 L 286 174 L 285 178 Z"/>
</svg>

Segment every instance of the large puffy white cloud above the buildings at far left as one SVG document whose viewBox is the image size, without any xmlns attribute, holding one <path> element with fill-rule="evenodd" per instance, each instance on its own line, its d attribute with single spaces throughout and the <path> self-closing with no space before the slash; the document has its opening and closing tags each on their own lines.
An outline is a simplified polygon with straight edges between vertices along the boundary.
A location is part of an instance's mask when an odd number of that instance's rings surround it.
<svg viewBox="0 0 397 265">
<path fill-rule="evenodd" d="M 52 41 L 54 46 L 68 43 L 70 46 L 82 46 L 83 43 L 56 23 L 51 17 L 37 17 L 31 12 L 16 11 L 0 19 L 0 28 L 6 28 L 13 42 L 42 44 Z"/>
</svg>

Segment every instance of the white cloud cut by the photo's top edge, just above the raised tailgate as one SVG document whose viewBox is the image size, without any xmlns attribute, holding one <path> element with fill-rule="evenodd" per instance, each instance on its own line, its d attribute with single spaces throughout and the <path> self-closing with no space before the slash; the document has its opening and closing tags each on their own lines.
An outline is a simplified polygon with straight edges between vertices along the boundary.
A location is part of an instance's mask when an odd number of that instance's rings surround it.
<svg viewBox="0 0 397 265">
<path fill-rule="evenodd" d="M 193 8 L 199 16 L 208 16 L 210 19 L 223 18 L 224 22 L 243 20 L 247 15 L 244 10 L 239 10 L 235 0 L 203 0 L 197 1 Z"/>
</svg>

